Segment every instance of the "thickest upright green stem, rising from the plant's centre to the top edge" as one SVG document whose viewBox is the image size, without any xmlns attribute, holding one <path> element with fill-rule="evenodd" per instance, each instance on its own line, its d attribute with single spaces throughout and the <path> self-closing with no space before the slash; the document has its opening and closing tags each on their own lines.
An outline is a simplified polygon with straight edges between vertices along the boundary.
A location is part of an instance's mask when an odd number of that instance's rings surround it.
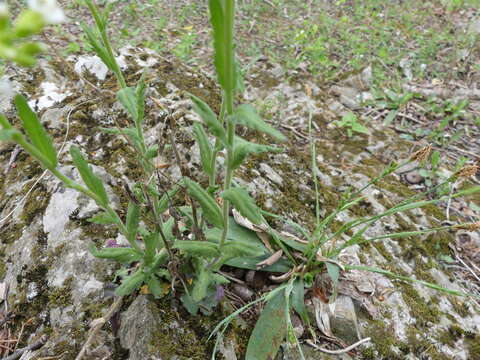
<svg viewBox="0 0 480 360">
<path fill-rule="evenodd" d="M 235 14 L 235 0 L 225 1 L 225 18 L 224 18 L 224 30 L 225 30 L 225 42 L 226 42 L 226 54 L 225 54 L 225 67 L 226 67 L 226 79 L 225 79 L 225 110 L 227 121 L 227 166 L 225 170 L 225 182 L 223 189 L 228 190 L 232 183 L 233 177 L 233 150 L 235 142 L 235 122 L 233 119 L 234 114 L 234 97 L 235 97 L 235 54 L 233 44 L 233 23 Z M 220 239 L 220 251 L 225 244 L 225 239 L 228 234 L 228 215 L 230 212 L 230 202 L 226 199 L 223 201 L 223 233 Z"/>
</svg>

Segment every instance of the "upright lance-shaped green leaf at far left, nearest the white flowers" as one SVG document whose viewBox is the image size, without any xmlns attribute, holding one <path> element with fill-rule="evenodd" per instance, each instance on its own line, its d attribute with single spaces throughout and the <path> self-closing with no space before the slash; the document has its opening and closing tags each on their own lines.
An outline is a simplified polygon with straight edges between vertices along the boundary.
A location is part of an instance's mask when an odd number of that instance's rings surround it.
<svg viewBox="0 0 480 360">
<path fill-rule="evenodd" d="M 52 140 L 43 128 L 42 124 L 37 118 L 37 115 L 28 106 L 27 100 L 22 95 L 15 96 L 15 106 L 18 111 L 18 116 L 23 123 L 23 128 L 27 133 L 32 145 L 45 157 L 47 161 L 44 164 L 48 168 L 56 168 L 57 151 L 52 144 Z"/>
</svg>

